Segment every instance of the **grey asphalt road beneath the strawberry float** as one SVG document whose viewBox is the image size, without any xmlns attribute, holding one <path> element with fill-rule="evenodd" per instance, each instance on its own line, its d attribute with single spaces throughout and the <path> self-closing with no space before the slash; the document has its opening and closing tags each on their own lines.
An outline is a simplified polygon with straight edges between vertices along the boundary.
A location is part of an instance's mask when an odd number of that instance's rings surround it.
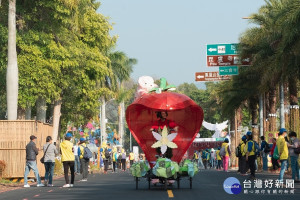
<svg viewBox="0 0 300 200">
<path fill-rule="evenodd" d="M 142 199 L 142 200 L 159 200 L 169 199 L 264 199 L 271 198 L 272 200 L 283 199 L 300 199 L 300 184 L 295 185 L 295 194 L 243 194 L 230 195 L 223 189 L 223 183 L 226 178 L 235 177 L 239 179 L 243 187 L 245 177 L 236 174 L 235 172 L 218 172 L 215 170 L 201 171 L 194 177 L 193 189 L 189 189 L 187 180 L 181 181 L 181 189 L 177 189 L 176 184 L 169 187 L 165 191 L 162 186 L 152 187 L 148 190 L 148 185 L 145 179 L 139 183 L 139 190 L 135 189 L 135 182 L 131 175 L 126 173 L 115 174 L 93 174 L 89 176 L 88 182 L 78 182 L 80 176 L 76 177 L 74 188 L 62 188 L 64 179 L 54 180 L 54 187 L 37 188 L 21 188 L 14 191 L 9 191 L 0 194 L 0 199 L 5 200 L 31 200 L 31 199 Z M 258 179 L 277 179 L 277 175 L 257 174 Z M 252 187 L 253 188 L 253 187 Z M 274 189 L 274 187 L 273 187 Z M 271 189 L 273 191 L 273 189 Z M 278 191 L 279 192 L 279 191 Z M 267 192 L 266 192 L 267 193 Z"/>
</svg>

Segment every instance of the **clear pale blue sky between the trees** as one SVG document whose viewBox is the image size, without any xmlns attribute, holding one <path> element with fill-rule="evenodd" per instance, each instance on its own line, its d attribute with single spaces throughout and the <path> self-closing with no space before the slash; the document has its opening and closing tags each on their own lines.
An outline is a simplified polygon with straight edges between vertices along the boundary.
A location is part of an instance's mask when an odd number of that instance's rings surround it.
<svg viewBox="0 0 300 200">
<path fill-rule="evenodd" d="M 165 77 L 170 84 L 195 83 L 206 67 L 206 44 L 236 43 L 251 25 L 242 17 L 263 0 L 100 0 L 98 12 L 114 23 L 116 50 L 136 58 L 132 78 Z"/>
</svg>

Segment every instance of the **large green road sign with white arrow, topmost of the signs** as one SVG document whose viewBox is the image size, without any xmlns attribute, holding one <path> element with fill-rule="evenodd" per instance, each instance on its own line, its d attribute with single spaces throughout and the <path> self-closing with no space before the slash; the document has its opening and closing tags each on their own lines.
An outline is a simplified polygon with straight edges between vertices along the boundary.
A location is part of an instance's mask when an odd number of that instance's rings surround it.
<svg viewBox="0 0 300 200">
<path fill-rule="evenodd" d="M 237 44 L 208 44 L 206 54 L 212 55 L 237 55 Z"/>
</svg>

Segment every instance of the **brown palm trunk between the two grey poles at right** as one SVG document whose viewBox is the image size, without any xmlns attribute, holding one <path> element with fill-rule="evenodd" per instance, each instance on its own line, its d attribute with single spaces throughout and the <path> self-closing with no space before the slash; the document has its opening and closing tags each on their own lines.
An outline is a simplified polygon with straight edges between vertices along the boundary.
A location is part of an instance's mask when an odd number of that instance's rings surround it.
<svg viewBox="0 0 300 200">
<path fill-rule="evenodd" d="M 272 88 L 269 93 L 269 104 L 270 104 L 270 113 L 269 113 L 269 130 L 274 132 L 277 131 L 277 114 L 276 114 L 276 87 Z"/>
</svg>

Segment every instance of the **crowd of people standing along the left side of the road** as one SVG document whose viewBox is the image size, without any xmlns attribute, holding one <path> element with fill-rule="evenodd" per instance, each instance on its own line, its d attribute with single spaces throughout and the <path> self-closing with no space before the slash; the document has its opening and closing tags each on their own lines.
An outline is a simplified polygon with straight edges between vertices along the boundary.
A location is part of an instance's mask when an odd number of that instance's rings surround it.
<svg viewBox="0 0 300 200">
<path fill-rule="evenodd" d="M 65 184 L 62 187 L 64 188 L 74 187 L 75 175 L 81 174 L 82 179 L 80 181 L 87 181 L 90 163 L 97 165 L 97 162 L 95 162 L 97 158 L 100 158 L 100 169 L 104 168 L 104 174 L 107 174 L 109 166 L 112 166 L 111 170 L 113 173 L 116 173 L 117 169 L 125 172 L 135 160 L 133 152 L 127 153 L 124 149 L 111 148 L 109 144 L 100 148 L 97 153 L 92 153 L 87 147 L 85 138 L 80 138 L 79 142 L 75 145 L 71 142 L 72 138 L 72 133 L 66 133 L 64 141 L 60 143 L 58 150 L 53 144 L 52 137 L 47 136 L 46 144 L 42 149 L 44 154 L 40 160 L 45 167 L 44 183 L 42 183 L 37 167 L 37 155 L 39 153 L 39 149 L 36 147 L 37 137 L 34 135 L 30 136 L 30 142 L 26 146 L 25 188 L 30 187 L 27 178 L 30 170 L 34 172 L 37 187 L 53 187 L 55 159 L 59 155 L 60 161 L 63 164 Z M 99 157 L 97 154 L 99 154 Z M 143 154 L 140 155 L 139 159 L 145 159 Z M 69 178 L 69 171 L 71 172 L 71 179 Z"/>
</svg>

